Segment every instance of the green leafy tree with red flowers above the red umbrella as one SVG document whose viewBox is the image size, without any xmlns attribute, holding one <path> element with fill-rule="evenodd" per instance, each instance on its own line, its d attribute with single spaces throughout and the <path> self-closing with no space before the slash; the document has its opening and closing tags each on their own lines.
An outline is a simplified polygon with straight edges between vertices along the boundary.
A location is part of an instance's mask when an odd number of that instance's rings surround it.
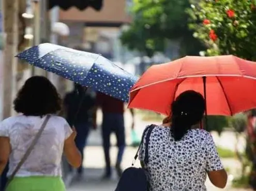
<svg viewBox="0 0 256 191">
<path fill-rule="evenodd" d="M 256 60 L 255 0 L 190 0 L 189 27 L 206 55 L 233 54 Z"/>
</svg>

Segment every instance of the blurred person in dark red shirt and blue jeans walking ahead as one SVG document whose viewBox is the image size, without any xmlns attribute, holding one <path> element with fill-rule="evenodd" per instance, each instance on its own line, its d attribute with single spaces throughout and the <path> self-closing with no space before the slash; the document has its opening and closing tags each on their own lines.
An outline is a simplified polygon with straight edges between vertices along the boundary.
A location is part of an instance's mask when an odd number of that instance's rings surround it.
<svg viewBox="0 0 256 191">
<path fill-rule="evenodd" d="M 99 106 L 103 113 L 102 121 L 102 139 L 103 150 L 106 162 L 106 171 L 103 179 L 109 179 L 112 176 L 111 162 L 110 162 L 110 135 L 115 133 L 117 139 L 118 154 L 116 159 L 116 171 L 118 177 L 121 177 L 123 170 L 121 162 L 125 150 L 125 123 L 124 123 L 124 102 L 117 100 L 109 95 L 98 92 L 97 93 L 97 106 Z M 132 124 L 134 124 L 134 114 L 132 114 Z M 96 116 L 95 116 L 96 121 Z M 96 124 L 96 122 L 95 122 Z M 133 128 L 133 125 L 132 125 Z"/>
</svg>

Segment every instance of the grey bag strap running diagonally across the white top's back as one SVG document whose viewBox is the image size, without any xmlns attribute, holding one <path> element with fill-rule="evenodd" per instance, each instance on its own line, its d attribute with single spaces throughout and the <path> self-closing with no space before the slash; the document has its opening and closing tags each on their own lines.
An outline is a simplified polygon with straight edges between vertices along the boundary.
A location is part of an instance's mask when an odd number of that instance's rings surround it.
<svg viewBox="0 0 256 191">
<path fill-rule="evenodd" d="M 13 178 L 16 176 L 17 172 L 20 170 L 21 166 L 24 164 L 24 162 L 27 160 L 28 156 L 31 154 L 32 150 L 34 149 L 35 145 L 37 144 L 38 139 L 40 138 L 44 128 L 46 128 L 46 125 L 50 119 L 51 115 L 47 115 L 46 118 L 44 119 L 41 128 L 39 129 L 39 131 L 37 132 L 35 138 L 33 139 L 33 141 L 31 142 L 31 145 L 27 148 L 25 154 L 23 155 L 23 157 L 21 158 L 21 161 L 18 163 L 18 165 L 16 166 L 16 168 L 13 170 L 13 172 L 11 173 L 11 176 L 8 178 L 8 181 L 6 183 L 5 189 L 8 187 L 8 185 L 10 184 L 10 182 L 13 180 Z"/>
</svg>

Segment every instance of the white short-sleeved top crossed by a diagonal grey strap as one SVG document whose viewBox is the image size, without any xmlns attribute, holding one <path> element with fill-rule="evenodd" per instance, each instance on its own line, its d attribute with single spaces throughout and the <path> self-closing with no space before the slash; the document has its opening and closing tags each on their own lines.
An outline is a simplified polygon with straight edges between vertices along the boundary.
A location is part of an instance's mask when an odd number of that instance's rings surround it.
<svg viewBox="0 0 256 191">
<path fill-rule="evenodd" d="M 9 171 L 14 171 L 45 118 L 36 116 L 14 116 L 0 122 L 0 136 L 9 137 L 11 153 Z M 72 134 L 67 121 L 51 116 L 33 151 L 28 156 L 16 177 L 62 176 L 61 161 L 64 141 Z"/>
</svg>

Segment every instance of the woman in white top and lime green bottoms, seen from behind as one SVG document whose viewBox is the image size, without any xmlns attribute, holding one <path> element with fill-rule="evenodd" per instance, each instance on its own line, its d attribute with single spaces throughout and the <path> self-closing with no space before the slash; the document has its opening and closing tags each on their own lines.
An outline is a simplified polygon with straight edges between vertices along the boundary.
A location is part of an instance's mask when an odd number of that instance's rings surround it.
<svg viewBox="0 0 256 191">
<path fill-rule="evenodd" d="M 0 174 L 9 161 L 10 176 L 38 133 L 44 116 L 49 121 L 32 152 L 26 158 L 7 191 L 64 191 L 61 160 L 63 152 L 73 167 L 81 165 L 72 131 L 67 121 L 56 116 L 62 100 L 52 83 L 42 76 L 33 76 L 25 82 L 14 100 L 18 116 L 0 123 Z"/>
</svg>

